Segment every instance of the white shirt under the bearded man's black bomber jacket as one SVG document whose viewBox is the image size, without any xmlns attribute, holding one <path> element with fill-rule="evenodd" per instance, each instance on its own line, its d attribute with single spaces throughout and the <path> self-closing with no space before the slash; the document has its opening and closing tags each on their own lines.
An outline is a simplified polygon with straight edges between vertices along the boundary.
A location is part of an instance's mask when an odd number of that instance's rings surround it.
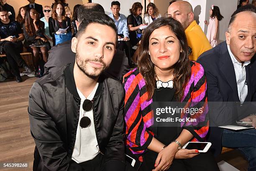
<svg viewBox="0 0 256 171">
<path fill-rule="evenodd" d="M 81 98 L 81 103 L 80 103 L 80 110 L 79 110 L 79 122 L 77 125 L 76 141 L 75 141 L 74 150 L 72 153 L 72 160 L 77 163 L 82 163 L 84 161 L 92 160 L 100 152 L 99 145 L 96 138 L 95 125 L 93 120 L 93 111 L 90 110 L 89 112 L 85 112 L 85 115 L 84 115 L 89 117 L 91 120 L 91 125 L 89 127 L 81 128 L 79 124 L 84 114 L 84 110 L 82 107 L 83 102 L 85 99 L 92 100 L 98 85 L 99 83 L 97 83 L 97 85 L 95 86 L 95 88 L 92 90 L 92 92 L 89 94 L 87 98 L 85 98 L 82 92 L 80 92 L 80 90 L 77 88 L 78 95 Z"/>
</svg>

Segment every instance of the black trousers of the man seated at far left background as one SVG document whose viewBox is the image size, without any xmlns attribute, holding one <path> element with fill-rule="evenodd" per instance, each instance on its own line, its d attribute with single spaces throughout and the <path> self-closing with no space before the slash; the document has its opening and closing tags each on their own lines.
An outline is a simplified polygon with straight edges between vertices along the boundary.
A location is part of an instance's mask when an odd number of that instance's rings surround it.
<svg viewBox="0 0 256 171">
<path fill-rule="evenodd" d="M 23 64 L 26 64 L 20 56 L 20 53 L 23 51 L 22 42 L 6 41 L 3 45 L 3 50 L 5 51 L 10 67 L 13 69 L 13 75 L 20 75 L 19 66 L 22 67 Z"/>
</svg>

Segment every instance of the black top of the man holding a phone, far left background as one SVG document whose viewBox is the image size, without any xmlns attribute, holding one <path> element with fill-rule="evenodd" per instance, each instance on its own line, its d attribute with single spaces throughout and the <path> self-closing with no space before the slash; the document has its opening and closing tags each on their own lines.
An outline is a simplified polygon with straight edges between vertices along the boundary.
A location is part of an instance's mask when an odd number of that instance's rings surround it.
<svg viewBox="0 0 256 171">
<path fill-rule="evenodd" d="M 16 36 L 16 38 L 19 37 L 18 34 L 21 34 L 22 29 L 20 28 L 20 24 L 15 20 L 10 20 L 8 24 L 2 23 L 0 21 L 0 37 L 1 38 L 7 38 L 9 36 Z"/>
</svg>

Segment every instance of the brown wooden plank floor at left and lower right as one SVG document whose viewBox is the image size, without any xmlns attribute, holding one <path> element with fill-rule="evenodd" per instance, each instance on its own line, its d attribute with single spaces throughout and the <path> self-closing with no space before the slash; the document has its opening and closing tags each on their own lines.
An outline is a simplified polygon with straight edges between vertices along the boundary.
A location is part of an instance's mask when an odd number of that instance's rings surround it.
<svg viewBox="0 0 256 171">
<path fill-rule="evenodd" d="M 33 167 L 34 141 L 30 135 L 28 120 L 28 93 L 37 78 L 23 76 L 23 82 L 0 82 L 0 163 L 28 163 L 28 168 L 0 171 L 31 171 Z M 223 154 L 224 160 L 247 171 L 248 163 L 238 151 Z"/>
</svg>

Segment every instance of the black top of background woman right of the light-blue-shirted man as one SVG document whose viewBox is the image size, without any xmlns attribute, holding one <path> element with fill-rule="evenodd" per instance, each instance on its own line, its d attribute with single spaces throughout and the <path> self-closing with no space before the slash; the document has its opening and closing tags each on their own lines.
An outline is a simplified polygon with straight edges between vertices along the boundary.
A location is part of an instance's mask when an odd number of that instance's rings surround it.
<svg viewBox="0 0 256 171">
<path fill-rule="evenodd" d="M 138 23 L 137 20 L 140 22 Z M 127 17 L 127 25 L 133 25 L 133 27 L 136 27 L 136 26 L 139 26 L 142 24 L 142 18 L 141 16 L 138 16 L 138 18 L 136 18 L 131 14 Z M 138 29 L 137 30 L 137 33 L 141 33 L 141 30 Z M 136 38 L 137 35 L 136 35 L 136 31 L 129 31 L 129 38 L 130 38 L 130 42 L 133 46 L 135 46 L 139 41 L 140 39 L 139 38 Z"/>
</svg>

